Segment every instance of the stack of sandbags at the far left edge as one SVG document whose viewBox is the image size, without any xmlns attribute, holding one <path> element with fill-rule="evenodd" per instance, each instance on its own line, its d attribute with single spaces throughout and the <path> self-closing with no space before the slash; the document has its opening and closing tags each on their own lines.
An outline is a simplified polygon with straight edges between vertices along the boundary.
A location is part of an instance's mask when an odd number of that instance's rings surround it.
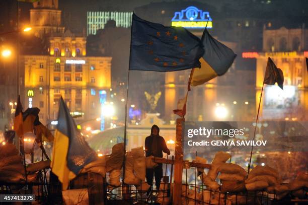
<svg viewBox="0 0 308 205">
<path fill-rule="evenodd" d="M 0 181 L 18 183 L 25 179 L 25 168 L 15 145 L 6 144 L 0 149 Z"/>
</svg>

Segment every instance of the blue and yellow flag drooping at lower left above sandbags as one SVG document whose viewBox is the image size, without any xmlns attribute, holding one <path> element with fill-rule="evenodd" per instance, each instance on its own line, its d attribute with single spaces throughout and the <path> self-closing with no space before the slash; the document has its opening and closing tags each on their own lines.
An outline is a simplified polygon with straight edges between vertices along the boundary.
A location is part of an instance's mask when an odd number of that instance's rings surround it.
<svg viewBox="0 0 308 205">
<path fill-rule="evenodd" d="M 96 153 L 76 128 L 76 124 L 61 97 L 50 167 L 62 183 L 62 189 L 67 189 L 69 181 L 75 178 L 85 165 L 96 159 Z"/>
</svg>

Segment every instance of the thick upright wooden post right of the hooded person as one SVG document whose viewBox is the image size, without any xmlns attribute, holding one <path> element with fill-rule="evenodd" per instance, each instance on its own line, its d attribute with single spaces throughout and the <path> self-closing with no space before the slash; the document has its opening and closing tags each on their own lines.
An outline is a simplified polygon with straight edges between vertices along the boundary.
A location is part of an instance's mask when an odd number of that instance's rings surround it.
<svg viewBox="0 0 308 205">
<path fill-rule="evenodd" d="M 183 145 L 182 145 L 182 124 L 185 118 L 177 119 L 176 143 L 175 143 L 175 165 L 174 165 L 174 184 L 173 184 L 173 204 L 180 205 L 182 192 L 182 172 L 183 172 Z"/>
</svg>

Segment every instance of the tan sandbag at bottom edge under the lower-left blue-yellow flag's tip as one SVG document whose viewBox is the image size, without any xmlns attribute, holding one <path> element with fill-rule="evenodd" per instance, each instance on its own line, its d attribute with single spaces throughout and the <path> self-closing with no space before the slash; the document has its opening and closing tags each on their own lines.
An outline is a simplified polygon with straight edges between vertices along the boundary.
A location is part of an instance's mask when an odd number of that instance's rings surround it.
<svg viewBox="0 0 308 205">
<path fill-rule="evenodd" d="M 65 205 L 88 205 L 88 189 L 69 189 L 62 191 L 62 197 Z"/>
</svg>

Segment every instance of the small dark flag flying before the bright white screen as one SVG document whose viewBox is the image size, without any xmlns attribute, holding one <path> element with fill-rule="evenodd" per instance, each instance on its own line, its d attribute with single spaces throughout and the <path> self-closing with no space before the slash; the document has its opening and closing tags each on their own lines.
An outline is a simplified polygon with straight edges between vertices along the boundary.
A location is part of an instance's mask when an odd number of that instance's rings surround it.
<svg viewBox="0 0 308 205">
<path fill-rule="evenodd" d="M 275 83 L 277 83 L 283 90 L 283 81 L 284 78 L 281 69 L 278 69 L 273 60 L 268 57 L 263 83 L 267 85 L 275 85 Z"/>
</svg>

